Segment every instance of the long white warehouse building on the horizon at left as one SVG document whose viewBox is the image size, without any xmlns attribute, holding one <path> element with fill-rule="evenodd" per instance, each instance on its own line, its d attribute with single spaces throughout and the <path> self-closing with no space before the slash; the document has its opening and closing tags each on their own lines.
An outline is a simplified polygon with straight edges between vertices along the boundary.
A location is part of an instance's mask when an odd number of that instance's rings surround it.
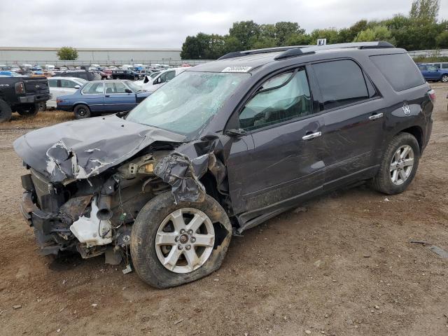
<svg viewBox="0 0 448 336">
<path fill-rule="evenodd" d="M 180 48 L 76 48 L 76 61 L 59 61 L 59 48 L 0 47 L 0 64 L 178 64 Z"/>
</svg>

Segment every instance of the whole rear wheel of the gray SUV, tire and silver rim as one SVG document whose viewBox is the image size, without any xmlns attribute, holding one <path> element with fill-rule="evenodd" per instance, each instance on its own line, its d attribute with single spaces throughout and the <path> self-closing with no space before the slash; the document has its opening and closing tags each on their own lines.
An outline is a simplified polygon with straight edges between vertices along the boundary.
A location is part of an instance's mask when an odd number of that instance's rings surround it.
<svg viewBox="0 0 448 336">
<path fill-rule="evenodd" d="M 402 193 L 414 179 L 419 160 L 420 147 L 415 137 L 409 133 L 395 135 L 370 183 L 372 188 L 386 195 Z"/>
</svg>

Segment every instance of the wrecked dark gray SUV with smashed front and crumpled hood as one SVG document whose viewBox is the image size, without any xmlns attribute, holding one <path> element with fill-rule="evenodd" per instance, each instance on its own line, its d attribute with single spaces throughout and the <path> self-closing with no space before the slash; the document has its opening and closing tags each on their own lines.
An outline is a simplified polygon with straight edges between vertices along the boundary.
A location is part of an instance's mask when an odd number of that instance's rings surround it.
<svg viewBox="0 0 448 336">
<path fill-rule="evenodd" d="M 130 249 L 158 288 L 220 267 L 232 235 L 360 181 L 402 193 L 435 95 L 384 42 L 232 52 L 187 69 L 130 113 L 14 143 L 22 214 L 43 254 Z"/>
</svg>

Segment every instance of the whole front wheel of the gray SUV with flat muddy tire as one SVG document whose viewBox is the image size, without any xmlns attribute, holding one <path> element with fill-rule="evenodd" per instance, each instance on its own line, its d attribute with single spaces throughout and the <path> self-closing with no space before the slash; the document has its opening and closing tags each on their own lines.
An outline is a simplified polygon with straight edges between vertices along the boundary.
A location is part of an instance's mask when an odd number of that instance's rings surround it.
<svg viewBox="0 0 448 336">
<path fill-rule="evenodd" d="M 175 204 L 164 193 L 141 209 L 132 226 L 132 263 L 151 286 L 179 286 L 218 269 L 231 237 L 230 220 L 213 197 Z"/>
</svg>

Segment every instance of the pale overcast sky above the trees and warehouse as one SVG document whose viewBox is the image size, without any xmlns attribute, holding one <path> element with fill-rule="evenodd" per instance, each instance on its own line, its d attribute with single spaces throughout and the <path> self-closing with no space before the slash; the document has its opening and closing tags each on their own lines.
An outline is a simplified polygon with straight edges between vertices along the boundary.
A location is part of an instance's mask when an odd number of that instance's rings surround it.
<svg viewBox="0 0 448 336">
<path fill-rule="evenodd" d="M 0 0 L 0 45 L 180 48 L 232 22 L 298 22 L 307 31 L 408 13 L 410 0 Z M 442 0 L 440 18 L 448 18 Z"/>
</svg>

